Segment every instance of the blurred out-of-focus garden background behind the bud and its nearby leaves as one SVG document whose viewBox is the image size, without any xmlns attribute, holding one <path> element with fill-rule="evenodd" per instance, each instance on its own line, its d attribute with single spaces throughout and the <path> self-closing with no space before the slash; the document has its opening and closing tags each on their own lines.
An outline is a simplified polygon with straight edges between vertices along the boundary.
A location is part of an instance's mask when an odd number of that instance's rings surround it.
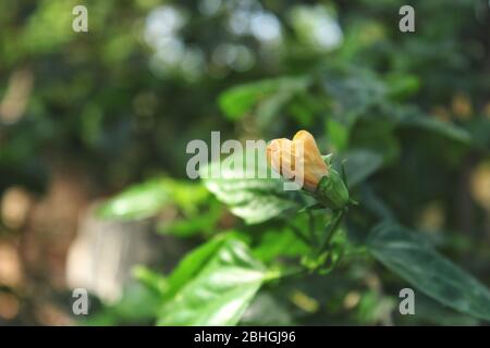
<svg viewBox="0 0 490 348">
<path fill-rule="evenodd" d="M 135 278 L 219 231 L 277 228 L 186 177 L 187 142 L 211 130 L 305 128 L 323 152 L 377 152 L 370 189 L 488 286 L 489 2 L 408 2 L 415 33 L 399 30 L 397 0 L 0 2 L 0 325 L 151 324 Z M 88 33 L 72 29 L 77 4 Z M 95 213 L 154 177 L 164 199 L 142 209 L 158 213 Z M 478 324 L 428 299 L 393 318 L 399 281 L 366 262 L 284 284 L 243 323 Z M 84 322 L 74 287 L 90 291 Z"/>
</svg>

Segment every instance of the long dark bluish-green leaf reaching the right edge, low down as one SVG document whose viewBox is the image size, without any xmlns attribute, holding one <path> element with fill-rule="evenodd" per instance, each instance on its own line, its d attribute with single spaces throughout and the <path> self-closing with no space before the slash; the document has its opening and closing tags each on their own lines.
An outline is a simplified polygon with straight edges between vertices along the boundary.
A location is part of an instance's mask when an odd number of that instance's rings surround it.
<svg viewBox="0 0 490 348">
<path fill-rule="evenodd" d="M 414 287 L 450 308 L 490 321 L 490 291 L 417 234 L 392 223 L 376 226 L 370 253 Z"/>
</svg>

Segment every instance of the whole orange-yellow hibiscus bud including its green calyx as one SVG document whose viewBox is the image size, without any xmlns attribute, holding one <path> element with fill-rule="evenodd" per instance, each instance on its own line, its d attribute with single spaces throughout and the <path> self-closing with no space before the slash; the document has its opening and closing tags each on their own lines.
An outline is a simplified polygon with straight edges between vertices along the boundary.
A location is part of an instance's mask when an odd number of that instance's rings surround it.
<svg viewBox="0 0 490 348">
<path fill-rule="evenodd" d="M 348 190 L 339 173 L 321 158 L 315 138 L 299 130 L 290 139 L 274 139 L 267 147 L 269 165 L 285 179 L 295 181 L 332 209 L 350 202 Z"/>
</svg>

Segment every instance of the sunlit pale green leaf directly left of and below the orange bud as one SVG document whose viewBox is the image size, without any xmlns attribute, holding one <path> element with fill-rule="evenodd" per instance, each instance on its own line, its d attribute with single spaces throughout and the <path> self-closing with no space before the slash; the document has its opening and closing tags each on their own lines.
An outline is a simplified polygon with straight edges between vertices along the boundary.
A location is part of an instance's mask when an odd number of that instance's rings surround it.
<svg viewBox="0 0 490 348">
<path fill-rule="evenodd" d="M 253 165 L 254 163 L 248 163 Z M 211 163 L 200 170 L 205 186 L 221 202 L 229 206 L 231 212 L 245 220 L 248 224 L 257 224 L 280 215 L 286 210 L 298 208 L 296 199 L 298 191 L 284 190 L 281 178 L 272 178 L 272 172 L 265 161 L 257 161 L 254 173 L 267 172 L 266 178 L 246 178 L 246 169 L 228 169 L 221 166 L 219 177 L 207 177 L 212 166 L 221 163 Z M 257 175 L 256 175 L 257 177 Z"/>
</svg>

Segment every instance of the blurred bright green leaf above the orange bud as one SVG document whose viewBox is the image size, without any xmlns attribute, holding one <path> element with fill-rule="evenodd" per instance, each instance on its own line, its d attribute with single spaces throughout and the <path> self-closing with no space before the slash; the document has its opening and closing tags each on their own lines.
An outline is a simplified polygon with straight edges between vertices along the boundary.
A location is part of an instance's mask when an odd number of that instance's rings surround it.
<svg viewBox="0 0 490 348">
<path fill-rule="evenodd" d="M 295 92 L 305 90 L 305 77 L 279 77 L 264 79 L 228 89 L 219 97 L 221 110 L 231 120 L 240 120 L 259 102 L 265 102 L 264 113 L 279 110 Z M 272 98 L 272 101 L 268 101 Z"/>
</svg>

